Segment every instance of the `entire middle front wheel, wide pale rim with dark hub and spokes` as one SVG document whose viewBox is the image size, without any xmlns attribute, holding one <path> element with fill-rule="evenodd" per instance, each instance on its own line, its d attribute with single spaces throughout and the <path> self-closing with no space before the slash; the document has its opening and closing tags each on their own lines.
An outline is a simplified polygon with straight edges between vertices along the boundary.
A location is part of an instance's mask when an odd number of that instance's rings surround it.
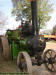
<svg viewBox="0 0 56 75">
<path fill-rule="evenodd" d="M 32 62 L 26 52 L 19 52 L 17 65 L 20 72 L 27 72 L 29 75 L 32 75 Z"/>
</svg>

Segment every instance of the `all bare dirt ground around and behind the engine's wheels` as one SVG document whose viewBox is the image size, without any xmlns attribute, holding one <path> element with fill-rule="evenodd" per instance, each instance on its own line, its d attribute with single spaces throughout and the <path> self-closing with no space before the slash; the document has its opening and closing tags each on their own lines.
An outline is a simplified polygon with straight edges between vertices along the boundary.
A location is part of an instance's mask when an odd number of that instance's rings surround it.
<svg viewBox="0 0 56 75">
<path fill-rule="evenodd" d="M 46 49 L 55 49 L 56 50 L 56 43 L 50 43 L 47 42 Z M 46 50 L 45 49 L 45 50 Z M 33 66 L 33 75 L 56 75 L 56 73 L 50 73 L 48 70 L 45 68 L 44 65 L 39 66 Z M 0 55 L 0 72 L 17 72 L 17 64 L 16 61 L 5 61 L 2 56 Z"/>
</svg>

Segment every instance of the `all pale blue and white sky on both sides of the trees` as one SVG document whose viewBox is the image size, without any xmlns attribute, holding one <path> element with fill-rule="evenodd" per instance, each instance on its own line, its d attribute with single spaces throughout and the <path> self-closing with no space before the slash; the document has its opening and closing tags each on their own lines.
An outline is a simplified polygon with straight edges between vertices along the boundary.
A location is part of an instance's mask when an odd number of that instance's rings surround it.
<svg viewBox="0 0 56 75">
<path fill-rule="evenodd" d="M 56 24 L 56 0 L 50 0 L 50 1 L 51 3 L 53 3 L 54 10 L 52 13 L 50 13 L 51 19 L 49 22 L 46 23 L 45 29 L 52 29 L 53 26 Z M 13 29 L 17 27 L 18 24 L 20 24 L 19 22 L 15 21 L 14 17 L 12 17 L 11 14 L 12 8 L 13 8 L 12 0 L 0 0 L 0 11 L 3 12 L 6 17 L 8 17 L 8 21 L 9 21 L 9 24 L 0 30 L 0 34 L 5 33 L 6 28 Z"/>
</svg>

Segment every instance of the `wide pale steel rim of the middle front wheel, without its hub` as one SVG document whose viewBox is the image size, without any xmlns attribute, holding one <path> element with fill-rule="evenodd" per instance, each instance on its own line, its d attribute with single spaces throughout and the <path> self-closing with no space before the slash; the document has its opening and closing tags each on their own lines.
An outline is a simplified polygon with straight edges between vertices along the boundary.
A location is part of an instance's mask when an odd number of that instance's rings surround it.
<svg viewBox="0 0 56 75">
<path fill-rule="evenodd" d="M 26 61 L 26 71 L 22 71 L 22 70 L 20 70 L 20 71 L 27 72 L 27 73 L 29 73 L 29 75 L 32 75 L 32 63 L 31 63 L 31 59 L 30 59 L 29 55 L 26 52 L 20 52 L 18 54 L 17 65 L 19 66 L 19 64 L 20 64 L 20 58 L 21 58 L 22 55 L 24 56 L 25 61 Z"/>
</svg>

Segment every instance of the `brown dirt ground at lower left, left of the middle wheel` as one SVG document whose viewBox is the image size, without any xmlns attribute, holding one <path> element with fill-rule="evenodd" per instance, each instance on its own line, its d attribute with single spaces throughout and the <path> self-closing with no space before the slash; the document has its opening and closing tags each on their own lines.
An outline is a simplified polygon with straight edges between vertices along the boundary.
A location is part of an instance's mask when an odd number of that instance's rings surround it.
<svg viewBox="0 0 56 75">
<path fill-rule="evenodd" d="M 0 72 L 17 72 L 16 65 L 16 61 L 6 61 L 0 55 Z"/>
</svg>

